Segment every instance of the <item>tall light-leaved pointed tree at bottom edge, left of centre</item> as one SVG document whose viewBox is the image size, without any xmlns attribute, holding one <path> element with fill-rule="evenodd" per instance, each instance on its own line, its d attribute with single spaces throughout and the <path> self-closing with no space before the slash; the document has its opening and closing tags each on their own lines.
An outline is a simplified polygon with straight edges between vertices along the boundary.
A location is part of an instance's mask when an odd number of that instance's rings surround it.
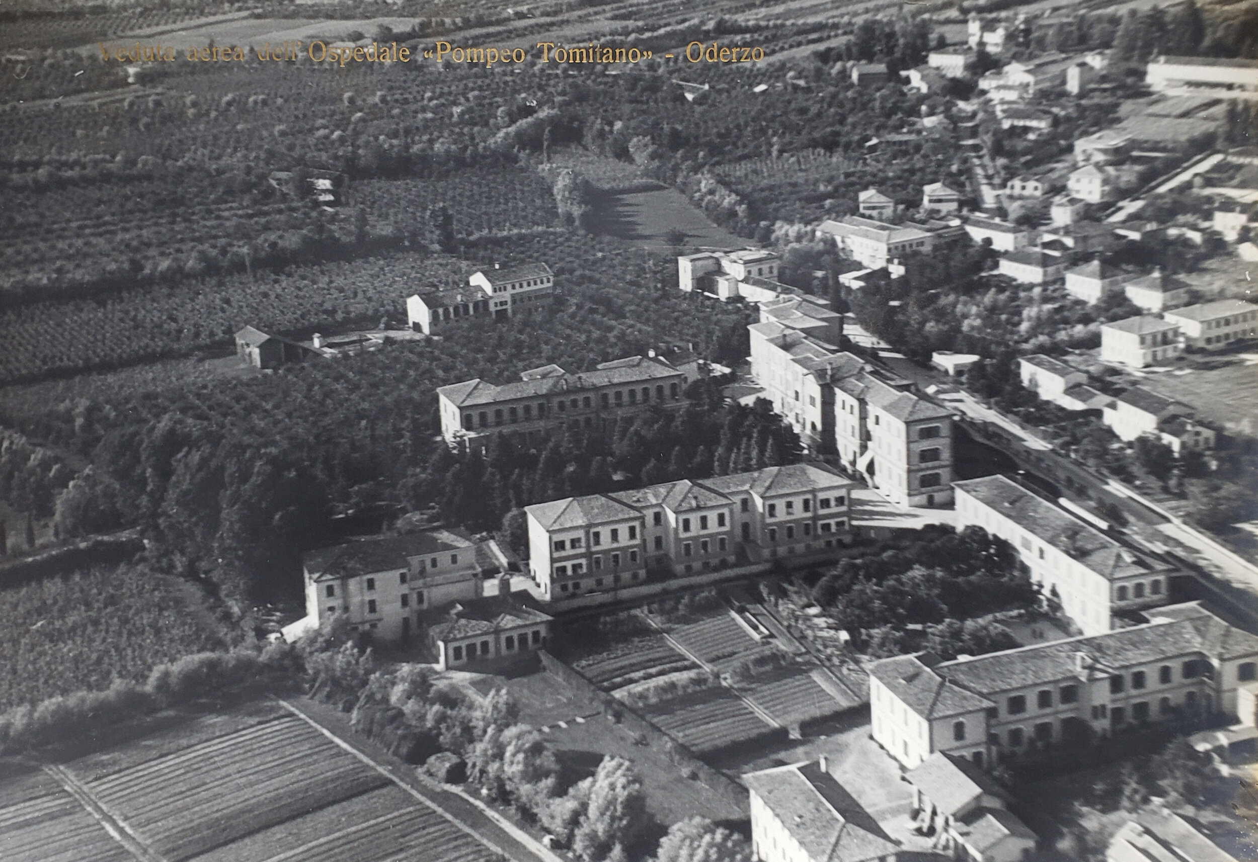
<svg viewBox="0 0 1258 862">
<path fill-rule="evenodd" d="M 587 862 L 624 854 L 648 827 L 647 794 L 633 764 L 606 756 L 594 773 L 585 817 L 572 836 L 572 849 Z"/>
</svg>

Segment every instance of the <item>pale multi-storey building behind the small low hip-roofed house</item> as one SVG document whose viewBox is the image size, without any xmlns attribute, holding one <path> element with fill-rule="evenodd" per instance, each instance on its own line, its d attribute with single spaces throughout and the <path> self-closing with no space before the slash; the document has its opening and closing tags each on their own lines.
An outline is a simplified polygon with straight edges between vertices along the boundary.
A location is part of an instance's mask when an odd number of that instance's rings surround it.
<svg viewBox="0 0 1258 862">
<path fill-rule="evenodd" d="M 317 628 L 331 617 L 385 641 L 408 638 L 421 614 L 483 594 L 484 579 L 506 558 L 492 542 L 463 530 L 431 529 L 375 537 L 312 550 L 302 560 L 306 618 Z"/>
</svg>

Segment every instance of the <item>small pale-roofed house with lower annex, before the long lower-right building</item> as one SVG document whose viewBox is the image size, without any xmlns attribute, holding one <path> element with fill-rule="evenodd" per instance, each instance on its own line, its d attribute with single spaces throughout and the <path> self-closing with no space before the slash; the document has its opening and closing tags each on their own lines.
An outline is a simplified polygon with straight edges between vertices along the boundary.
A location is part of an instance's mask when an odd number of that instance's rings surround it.
<svg viewBox="0 0 1258 862">
<path fill-rule="evenodd" d="M 965 734 L 965 723 L 954 733 Z M 933 849 L 954 858 L 1020 862 L 1035 849 L 1035 833 L 1008 805 L 1013 797 L 979 763 L 936 751 L 908 772 L 918 829 Z"/>
</svg>

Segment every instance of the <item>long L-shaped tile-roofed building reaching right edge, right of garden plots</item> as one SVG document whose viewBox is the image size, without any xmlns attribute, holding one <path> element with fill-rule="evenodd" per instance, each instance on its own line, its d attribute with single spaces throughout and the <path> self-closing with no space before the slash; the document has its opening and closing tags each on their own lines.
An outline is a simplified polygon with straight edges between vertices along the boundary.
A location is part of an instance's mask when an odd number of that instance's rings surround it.
<svg viewBox="0 0 1258 862">
<path fill-rule="evenodd" d="M 1131 725 L 1235 714 L 1258 676 L 1258 637 L 1200 602 L 1102 635 L 869 667 L 873 738 L 910 769 L 936 751 L 985 765 Z"/>
</svg>

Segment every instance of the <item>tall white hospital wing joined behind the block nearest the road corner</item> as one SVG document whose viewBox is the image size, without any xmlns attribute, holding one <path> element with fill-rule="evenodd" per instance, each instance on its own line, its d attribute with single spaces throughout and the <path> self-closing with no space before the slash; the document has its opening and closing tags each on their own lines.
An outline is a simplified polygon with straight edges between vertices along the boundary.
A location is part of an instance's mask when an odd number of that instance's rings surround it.
<svg viewBox="0 0 1258 862">
<path fill-rule="evenodd" d="M 765 320 L 747 327 L 751 376 L 765 390 L 774 410 L 795 428 L 805 449 L 833 451 L 834 390 L 866 363 L 828 342 L 805 334 L 790 322 Z"/>
</svg>

